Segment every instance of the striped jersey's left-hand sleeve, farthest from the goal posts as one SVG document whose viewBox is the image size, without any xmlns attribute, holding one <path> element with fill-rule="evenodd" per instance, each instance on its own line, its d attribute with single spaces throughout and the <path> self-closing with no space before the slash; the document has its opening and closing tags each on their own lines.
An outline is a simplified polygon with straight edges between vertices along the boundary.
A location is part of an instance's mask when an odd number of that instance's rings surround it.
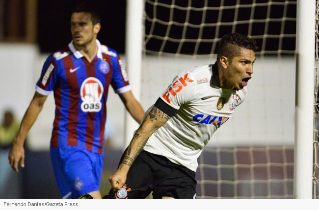
<svg viewBox="0 0 319 210">
<path fill-rule="evenodd" d="M 42 95 L 49 95 L 54 89 L 54 86 L 57 82 L 57 78 L 57 65 L 52 54 L 47 58 L 42 67 L 41 76 L 38 82 L 36 83 L 36 92 Z"/>
</svg>

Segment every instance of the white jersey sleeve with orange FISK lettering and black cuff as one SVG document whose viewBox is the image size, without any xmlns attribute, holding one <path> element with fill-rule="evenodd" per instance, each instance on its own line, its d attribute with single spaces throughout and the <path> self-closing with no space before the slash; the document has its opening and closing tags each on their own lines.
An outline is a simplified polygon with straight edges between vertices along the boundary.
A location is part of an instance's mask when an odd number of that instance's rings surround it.
<svg viewBox="0 0 319 210">
<path fill-rule="evenodd" d="M 183 71 L 178 74 L 167 89 L 160 95 L 155 106 L 172 117 L 183 104 L 194 99 L 195 79 L 191 72 Z"/>
</svg>

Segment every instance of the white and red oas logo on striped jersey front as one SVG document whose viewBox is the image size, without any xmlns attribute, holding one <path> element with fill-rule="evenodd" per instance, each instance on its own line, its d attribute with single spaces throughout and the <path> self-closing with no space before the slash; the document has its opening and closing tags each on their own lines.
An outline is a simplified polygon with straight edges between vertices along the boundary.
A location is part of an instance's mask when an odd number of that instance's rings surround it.
<svg viewBox="0 0 319 210">
<path fill-rule="evenodd" d="M 104 89 L 100 80 L 95 77 L 85 79 L 81 85 L 81 110 L 83 112 L 99 112 L 102 108 L 101 98 Z"/>
</svg>

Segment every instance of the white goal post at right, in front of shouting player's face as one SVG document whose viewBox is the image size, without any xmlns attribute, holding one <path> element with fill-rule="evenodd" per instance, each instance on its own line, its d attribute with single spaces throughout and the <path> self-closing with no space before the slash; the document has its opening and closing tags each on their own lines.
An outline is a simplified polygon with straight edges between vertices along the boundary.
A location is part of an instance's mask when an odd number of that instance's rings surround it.
<svg viewBox="0 0 319 210">
<path fill-rule="evenodd" d="M 294 198 L 312 198 L 316 0 L 297 0 Z"/>
</svg>

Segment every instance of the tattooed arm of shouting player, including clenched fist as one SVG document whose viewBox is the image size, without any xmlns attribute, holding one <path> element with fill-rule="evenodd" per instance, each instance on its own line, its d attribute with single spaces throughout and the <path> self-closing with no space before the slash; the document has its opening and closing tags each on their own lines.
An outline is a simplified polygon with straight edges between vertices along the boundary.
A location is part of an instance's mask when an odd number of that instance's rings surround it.
<svg viewBox="0 0 319 210">
<path fill-rule="evenodd" d="M 130 145 L 124 152 L 124 157 L 118 170 L 109 178 L 114 190 L 120 189 L 126 182 L 127 173 L 135 158 L 142 151 L 148 138 L 169 119 L 169 116 L 153 106 L 149 114 L 135 132 Z"/>
</svg>

